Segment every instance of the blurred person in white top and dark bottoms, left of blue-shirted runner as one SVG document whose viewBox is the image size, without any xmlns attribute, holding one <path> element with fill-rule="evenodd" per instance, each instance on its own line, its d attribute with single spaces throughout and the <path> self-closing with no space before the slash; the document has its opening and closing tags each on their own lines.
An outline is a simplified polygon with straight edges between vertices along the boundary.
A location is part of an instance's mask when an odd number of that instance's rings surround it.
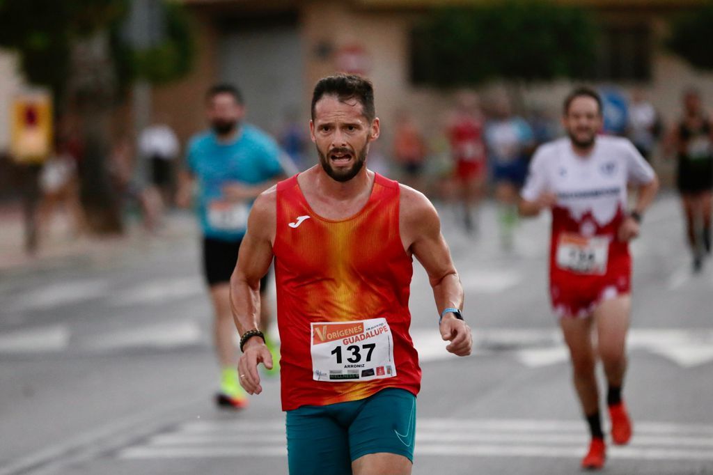
<svg viewBox="0 0 713 475">
<path fill-rule="evenodd" d="M 151 181 L 166 206 L 173 205 L 174 163 L 179 152 L 178 138 L 165 121 L 156 121 L 141 131 L 138 153 L 142 160 L 150 162 Z"/>
</svg>

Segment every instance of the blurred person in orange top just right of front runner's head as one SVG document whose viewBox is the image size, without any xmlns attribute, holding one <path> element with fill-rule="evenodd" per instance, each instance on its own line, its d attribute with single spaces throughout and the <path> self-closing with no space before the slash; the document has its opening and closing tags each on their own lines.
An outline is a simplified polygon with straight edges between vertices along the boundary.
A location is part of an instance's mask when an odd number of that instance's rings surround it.
<svg viewBox="0 0 713 475">
<path fill-rule="evenodd" d="M 421 174 L 425 159 L 426 142 L 423 134 L 416 127 L 410 113 L 399 111 L 396 113 L 394 130 L 394 161 L 401 168 L 403 183 L 421 192 L 424 191 Z"/>
</svg>

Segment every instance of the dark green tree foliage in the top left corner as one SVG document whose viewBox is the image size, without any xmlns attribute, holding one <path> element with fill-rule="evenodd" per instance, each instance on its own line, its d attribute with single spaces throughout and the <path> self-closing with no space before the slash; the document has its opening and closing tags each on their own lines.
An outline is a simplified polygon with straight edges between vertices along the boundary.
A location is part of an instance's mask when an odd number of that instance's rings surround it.
<svg viewBox="0 0 713 475">
<path fill-rule="evenodd" d="M 30 83 L 48 86 L 61 98 L 70 71 L 73 42 L 110 29 L 118 86 L 135 78 L 166 83 L 185 76 L 194 58 L 190 21 L 183 6 L 165 2 L 165 39 L 138 51 L 120 34 L 130 0 L 0 0 L 0 46 L 19 53 Z"/>
</svg>

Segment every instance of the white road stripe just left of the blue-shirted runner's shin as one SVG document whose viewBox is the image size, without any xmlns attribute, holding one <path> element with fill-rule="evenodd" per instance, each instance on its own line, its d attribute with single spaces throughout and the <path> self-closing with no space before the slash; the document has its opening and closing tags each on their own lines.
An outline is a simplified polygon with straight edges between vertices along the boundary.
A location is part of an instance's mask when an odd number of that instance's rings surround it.
<svg viewBox="0 0 713 475">
<path fill-rule="evenodd" d="M 111 350 L 128 347 L 180 347 L 200 342 L 202 332 L 193 320 L 165 322 L 153 326 L 100 334 L 86 344 L 86 349 Z"/>
</svg>

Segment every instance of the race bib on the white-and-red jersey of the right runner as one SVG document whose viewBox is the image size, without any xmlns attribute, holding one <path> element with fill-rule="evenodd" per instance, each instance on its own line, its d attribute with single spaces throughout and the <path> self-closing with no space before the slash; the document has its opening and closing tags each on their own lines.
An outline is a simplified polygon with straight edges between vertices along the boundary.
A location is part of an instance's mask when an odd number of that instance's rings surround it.
<svg viewBox="0 0 713 475">
<path fill-rule="evenodd" d="M 562 233 L 557 242 L 557 267 L 580 274 L 603 275 L 607 272 L 609 239 Z"/>
</svg>

